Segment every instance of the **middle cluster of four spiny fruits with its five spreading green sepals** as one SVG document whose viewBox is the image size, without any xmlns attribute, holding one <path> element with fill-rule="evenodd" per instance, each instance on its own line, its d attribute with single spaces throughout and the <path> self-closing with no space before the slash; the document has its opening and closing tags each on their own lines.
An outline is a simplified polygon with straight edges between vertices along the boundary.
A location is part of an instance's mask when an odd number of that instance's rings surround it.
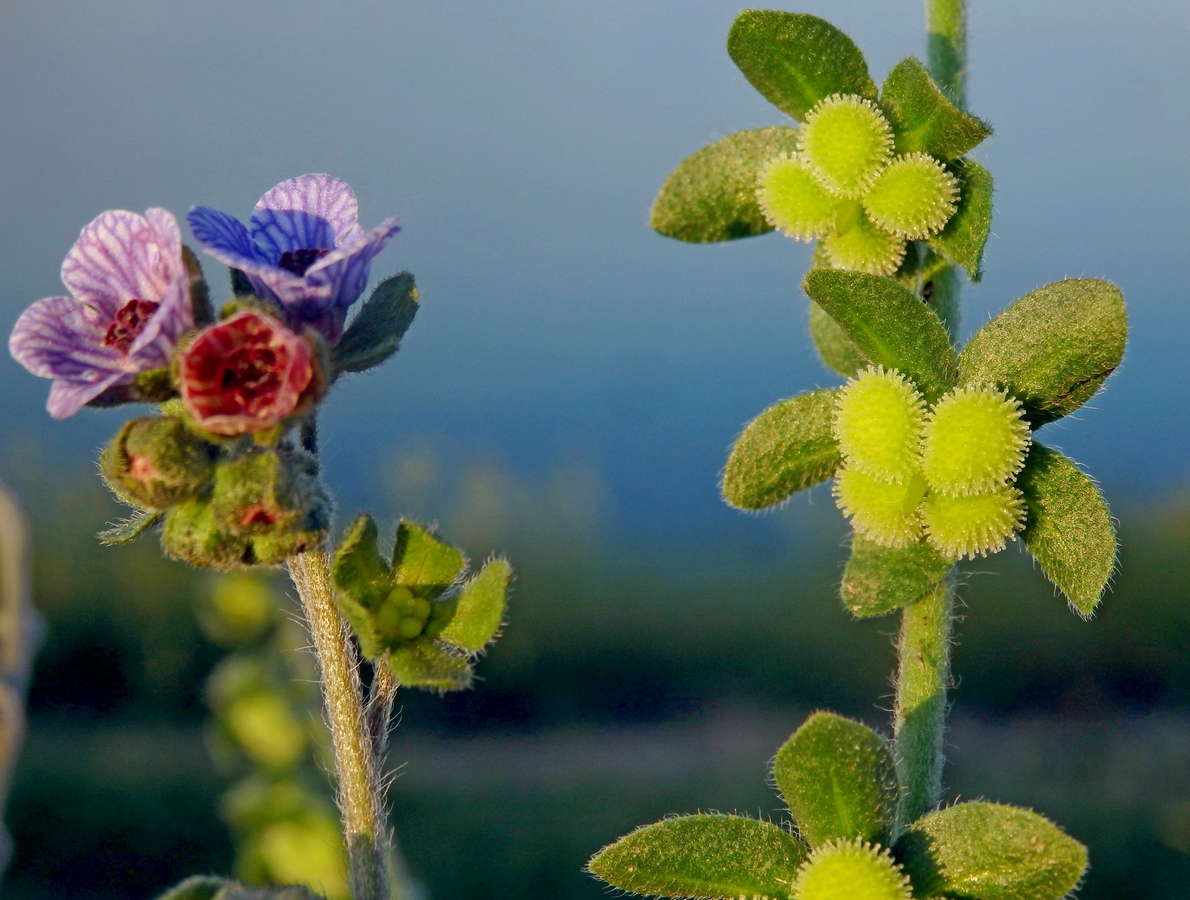
<svg viewBox="0 0 1190 900">
<path fill-rule="evenodd" d="M 1082 406 L 1119 365 L 1120 292 L 1048 285 L 956 355 L 938 317 L 892 279 L 813 269 L 804 288 L 873 368 L 760 413 L 727 461 L 727 501 L 763 510 L 834 477 L 856 529 L 841 594 L 859 617 L 912 604 L 959 557 L 1017 533 L 1090 615 L 1115 565 L 1111 518 L 1095 483 L 1032 431 Z"/>
</svg>

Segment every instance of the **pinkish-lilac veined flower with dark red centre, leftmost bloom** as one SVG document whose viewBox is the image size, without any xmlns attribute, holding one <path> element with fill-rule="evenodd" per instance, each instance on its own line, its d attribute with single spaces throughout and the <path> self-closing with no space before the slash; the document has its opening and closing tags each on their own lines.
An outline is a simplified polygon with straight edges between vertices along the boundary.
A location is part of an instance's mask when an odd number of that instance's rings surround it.
<svg viewBox="0 0 1190 900">
<path fill-rule="evenodd" d="M 62 282 L 74 296 L 38 300 L 8 338 L 17 362 L 54 379 L 45 406 L 55 419 L 169 365 L 177 338 L 194 325 L 182 236 L 167 210 L 101 214 L 67 254 Z"/>
</svg>

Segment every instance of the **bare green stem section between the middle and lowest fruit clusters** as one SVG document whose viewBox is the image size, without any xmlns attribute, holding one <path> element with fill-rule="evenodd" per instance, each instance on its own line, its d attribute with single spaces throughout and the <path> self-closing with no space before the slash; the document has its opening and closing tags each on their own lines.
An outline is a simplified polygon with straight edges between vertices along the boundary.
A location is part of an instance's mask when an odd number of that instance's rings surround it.
<svg viewBox="0 0 1190 900">
<path fill-rule="evenodd" d="M 953 621 L 952 569 L 933 590 L 907 606 L 901 618 L 892 729 L 902 825 L 929 812 L 941 799 Z"/>
</svg>

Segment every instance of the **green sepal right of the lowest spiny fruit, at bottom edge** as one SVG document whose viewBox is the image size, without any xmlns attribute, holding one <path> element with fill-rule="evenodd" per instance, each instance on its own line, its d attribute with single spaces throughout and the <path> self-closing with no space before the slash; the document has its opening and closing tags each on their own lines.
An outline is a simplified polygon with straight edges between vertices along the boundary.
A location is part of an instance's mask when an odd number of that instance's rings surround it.
<svg viewBox="0 0 1190 900">
<path fill-rule="evenodd" d="M 914 896 L 1058 900 L 1086 870 L 1086 849 L 1035 812 L 959 804 L 922 817 L 896 846 Z"/>
</svg>

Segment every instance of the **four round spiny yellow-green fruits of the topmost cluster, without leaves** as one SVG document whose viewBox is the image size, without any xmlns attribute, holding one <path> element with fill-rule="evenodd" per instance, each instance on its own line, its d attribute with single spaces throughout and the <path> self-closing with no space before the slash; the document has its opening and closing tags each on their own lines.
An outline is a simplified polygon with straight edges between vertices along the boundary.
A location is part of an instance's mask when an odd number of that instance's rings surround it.
<svg viewBox="0 0 1190 900">
<path fill-rule="evenodd" d="M 891 275 L 906 242 L 941 231 L 959 199 L 958 181 L 940 161 L 894 156 L 892 146 L 892 127 L 876 104 L 832 94 L 806 117 L 797 151 L 760 170 L 760 210 L 788 237 L 820 238 L 835 268 Z"/>
</svg>

